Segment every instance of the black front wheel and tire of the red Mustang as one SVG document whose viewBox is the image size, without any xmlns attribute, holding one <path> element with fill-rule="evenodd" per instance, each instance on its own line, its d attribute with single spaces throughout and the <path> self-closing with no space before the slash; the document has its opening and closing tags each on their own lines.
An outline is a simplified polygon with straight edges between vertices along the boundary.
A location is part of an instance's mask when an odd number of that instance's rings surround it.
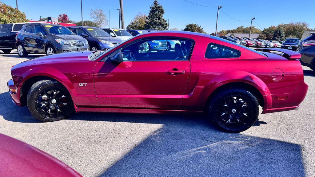
<svg viewBox="0 0 315 177">
<path fill-rule="evenodd" d="M 27 106 L 40 121 L 53 122 L 65 119 L 74 106 L 68 90 L 59 82 L 42 80 L 34 83 L 27 94 Z"/>
</svg>

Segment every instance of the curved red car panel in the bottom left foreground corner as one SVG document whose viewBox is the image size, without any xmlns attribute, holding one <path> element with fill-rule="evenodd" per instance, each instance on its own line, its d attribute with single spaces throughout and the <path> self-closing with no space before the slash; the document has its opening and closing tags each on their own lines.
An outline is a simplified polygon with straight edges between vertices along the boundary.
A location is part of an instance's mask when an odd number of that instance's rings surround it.
<svg viewBox="0 0 315 177">
<path fill-rule="evenodd" d="M 0 134 L 0 176 L 82 177 L 74 169 L 22 141 Z"/>
</svg>

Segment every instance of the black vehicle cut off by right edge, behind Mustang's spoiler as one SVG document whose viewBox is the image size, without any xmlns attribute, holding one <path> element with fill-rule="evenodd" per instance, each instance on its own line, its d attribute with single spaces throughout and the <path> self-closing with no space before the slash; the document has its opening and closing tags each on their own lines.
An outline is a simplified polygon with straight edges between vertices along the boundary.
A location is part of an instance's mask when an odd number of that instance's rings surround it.
<svg viewBox="0 0 315 177">
<path fill-rule="evenodd" d="M 303 39 L 298 44 L 297 50 L 301 54 L 301 64 L 315 71 L 315 33 Z"/>
</svg>

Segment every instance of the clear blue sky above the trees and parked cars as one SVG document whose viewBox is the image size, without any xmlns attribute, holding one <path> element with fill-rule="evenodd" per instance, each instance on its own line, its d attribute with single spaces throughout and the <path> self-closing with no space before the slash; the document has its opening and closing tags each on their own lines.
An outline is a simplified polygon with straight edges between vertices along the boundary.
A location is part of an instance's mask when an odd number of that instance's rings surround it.
<svg viewBox="0 0 315 177">
<path fill-rule="evenodd" d="M 15 0 L 1 0 L 12 7 L 16 7 Z M 90 20 L 90 9 L 103 9 L 109 18 L 110 26 L 118 27 L 119 0 L 82 0 L 83 20 Z M 138 13 L 149 13 L 149 6 L 154 0 L 123 0 L 125 26 Z M 222 29 L 235 29 L 238 26 L 250 26 L 251 17 L 261 28 L 279 23 L 292 21 L 306 21 L 310 27 L 315 28 L 315 18 L 312 9 L 315 7 L 315 0 L 188 0 L 193 3 L 205 6 L 216 7 L 222 5 L 222 10 L 237 21 L 228 17 L 222 11 L 219 14 L 218 31 Z M 185 0 L 158 0 L 165 10 L 164 18 L 169 19 L 170 28 L 183 29 L 188 23 L 201 25 L 207 33 L 215 31 L 217 8 L 207 8 Z M 42 7 L 42 8 L 41 8 Z M 308 8 L 309 7 L 309 8 Z M 58 17 L 60 13 L 66 13 L 70 20 L 81 20 L 80 0 L 18 0 L 18 8 L 25 12 L 28 19 L 38 20 L 42 17 Z M 304 9 L 304 10 L 303 10 Z M 308 10 L 307 10 L 308 9 Z M 303 13 L 304 11 L 304 13 Z M 301 13 L 302 12 L 302 13 Z M 257 26 L 253 22 L 254 26 Z M 258 27 L 258 26 L 257 26 Z M 260 27 L 258 27 L 261 29 Z"/>
</svg>

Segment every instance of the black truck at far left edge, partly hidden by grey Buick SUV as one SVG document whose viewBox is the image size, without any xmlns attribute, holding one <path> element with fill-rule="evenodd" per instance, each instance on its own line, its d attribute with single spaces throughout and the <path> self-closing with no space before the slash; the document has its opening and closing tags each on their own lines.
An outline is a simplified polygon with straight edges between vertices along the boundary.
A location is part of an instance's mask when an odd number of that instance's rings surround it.
<svg viewBox="0 0 315 177">
<path fill-rule="evenodd" d="M 16 33 L 22 29 L 22 26 L 32 22 L 0 24 L 0 50 L 9 54 L 15 49 Z"/>
</svg>

